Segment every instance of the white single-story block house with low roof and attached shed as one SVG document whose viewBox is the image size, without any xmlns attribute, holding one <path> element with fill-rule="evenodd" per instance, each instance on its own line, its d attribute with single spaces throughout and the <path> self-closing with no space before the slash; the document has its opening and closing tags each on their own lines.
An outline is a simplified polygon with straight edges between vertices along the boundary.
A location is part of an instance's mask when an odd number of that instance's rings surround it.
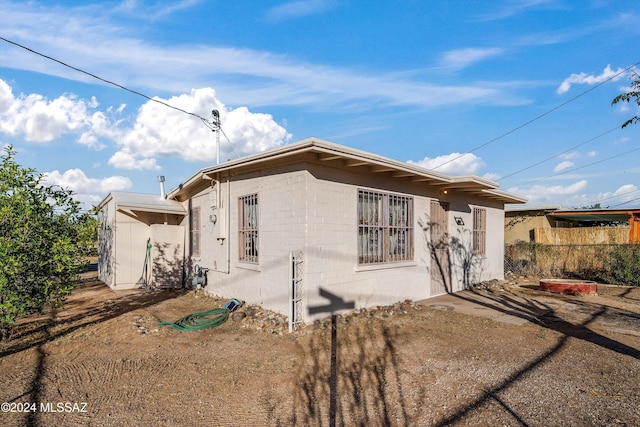
<svg viewBox="0 0 640 427">
<path fill-rule="evenodd" d="M 502 279 L 504 206 L 525 201 L 310 138 L 203 168 L 166 198 L 110 194 L 99 275 L 135 287 L 149 242 L 152 285 L 180 278 L 294 325 Z"/>
</svg>

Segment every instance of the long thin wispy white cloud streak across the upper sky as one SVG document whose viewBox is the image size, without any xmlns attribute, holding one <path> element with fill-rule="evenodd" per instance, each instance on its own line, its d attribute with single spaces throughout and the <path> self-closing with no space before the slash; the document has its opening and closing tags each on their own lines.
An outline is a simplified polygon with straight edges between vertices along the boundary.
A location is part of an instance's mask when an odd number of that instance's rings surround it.
<svg viewBox="0 0 640 427">
<path fill-rule="evenodd" d="M 326 7 L 326 4 L 292 2 L 286 5 L 303 8 Z M 154 44 L 139 38 L 134 29 L 114 25 L 117 12 L 98 4 L 65 9 L 41 7 L 37 3 L 11 3 L 3 12 L 6 37 L 53 57 L 68 57 L 69 52 L 74 52 L 82 58 L 84 69 L 108 70 L 108 75 L 102 77 L 152 93 L 185 93 L 216 81 L 218 93 L 234 99 L 237 105 L 311 105 L 335 110 L 336 106 L 353 103 L 376 108 L 381 104 L 434 107 L 524 102 L 521 96 L 514 95 L 522 82 L 485 81 L 446 86 L 411 80 L 403 72 L 363 72 L 308 63 L 267 51 L 201 43 Z M 39 36 L 43 28 L 47 29 L 48 37 Z M 472 56 L 478 60 L 490 52 L 479 49 Z M 93 81 L 65 67 L 50 67 L 41 58 L 20 49 L 7 49 L 2 53 L 2 62 L 7 68 Z"/>
</svg>

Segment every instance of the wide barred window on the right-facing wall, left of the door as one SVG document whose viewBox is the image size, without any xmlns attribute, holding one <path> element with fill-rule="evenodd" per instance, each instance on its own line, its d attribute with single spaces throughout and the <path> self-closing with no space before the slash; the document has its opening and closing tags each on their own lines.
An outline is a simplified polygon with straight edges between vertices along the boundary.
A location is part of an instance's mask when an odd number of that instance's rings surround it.
<svg viewBox="0 0 640 427">
<path fill-rule="evenodd" d="M 358 264 L 413 260 L 413 197 L 358 190 Z"/>
</svg>

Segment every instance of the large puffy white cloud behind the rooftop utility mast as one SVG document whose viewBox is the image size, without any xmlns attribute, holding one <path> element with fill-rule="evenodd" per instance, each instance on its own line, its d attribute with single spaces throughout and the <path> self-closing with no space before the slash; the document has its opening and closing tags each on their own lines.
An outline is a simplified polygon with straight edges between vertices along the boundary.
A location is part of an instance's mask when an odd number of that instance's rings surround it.
<svg viewBox="0 0 640 427">
<path fill-rule="evenodd" d="M 269 114 L 252 113 L 246 107 L 227 108 L 211 88 L 156 99 L 205 118 L 211 118 L 211 110 L 218 110 L 224 132 L 218 135 L 221 161 L 277 147 L 291 137 Z M 157 158 L 165 156 L 216 159 L 216 134 L 209 127 L 197 117 L 153 101 L 140 108 L 133 128 L 123 131 L 118 145 L 109 164 L 124 169 L 159 169 Z"/>
</svg>

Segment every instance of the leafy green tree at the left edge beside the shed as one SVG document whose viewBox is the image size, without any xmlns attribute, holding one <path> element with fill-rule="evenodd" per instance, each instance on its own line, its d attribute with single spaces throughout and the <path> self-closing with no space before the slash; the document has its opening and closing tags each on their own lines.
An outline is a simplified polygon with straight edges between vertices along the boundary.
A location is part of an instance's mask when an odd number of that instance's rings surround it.
<svg viewBox="0 0 640 427">
<path fill-rule="evenodd" d="M 44 185 L 14 157 L 11 146 L 0 156 L 0 338 L 17 318 L 64 303 L 86 266 L 77 243 L 90 222 L 71 191 Z"/>
</svg>

